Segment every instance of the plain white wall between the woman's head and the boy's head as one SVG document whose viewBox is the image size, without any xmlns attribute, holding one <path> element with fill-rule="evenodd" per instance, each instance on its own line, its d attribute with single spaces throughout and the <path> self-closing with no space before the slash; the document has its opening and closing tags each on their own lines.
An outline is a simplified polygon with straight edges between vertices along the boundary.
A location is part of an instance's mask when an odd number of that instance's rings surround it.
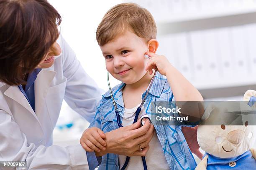
<svg viewBox="0 0 256 170">
<path fill-rule="evenodd" d="M 105 60 L 96 41 L 96 29 L 103 15 L 120 0 L 49 0 L 62 17 L 61 34 L 77 54 L 84 70 L 108 90 Z M 111 79 L 111 85 L 118 81 Z"/>
</svg>

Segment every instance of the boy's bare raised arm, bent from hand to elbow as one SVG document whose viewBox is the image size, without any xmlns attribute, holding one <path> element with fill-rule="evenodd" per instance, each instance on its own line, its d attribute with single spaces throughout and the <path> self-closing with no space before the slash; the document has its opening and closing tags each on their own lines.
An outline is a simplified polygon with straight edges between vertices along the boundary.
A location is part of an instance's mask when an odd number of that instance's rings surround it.
<svg viewBox="0 0 256 170">
<path fill-rule="evenodd" d="M 189 116 L 189 122 L 198 122 L 204 113 L 203 98 L 200 92 L 171 65 L 164 55 L 156 55 L 151 52 L 146 52 L 146 54 L 151 57 L 146 66 L 146 70 L 152 74 L 152 69 L 157 67 L 160 74 L 166 76 L 172 89 L 176 105 L 182 108 L 182 113 L 185 113 L 181 114 L 181 116 Z M 189 113 L 189 115 L 186 113 Z"/>
</svg>

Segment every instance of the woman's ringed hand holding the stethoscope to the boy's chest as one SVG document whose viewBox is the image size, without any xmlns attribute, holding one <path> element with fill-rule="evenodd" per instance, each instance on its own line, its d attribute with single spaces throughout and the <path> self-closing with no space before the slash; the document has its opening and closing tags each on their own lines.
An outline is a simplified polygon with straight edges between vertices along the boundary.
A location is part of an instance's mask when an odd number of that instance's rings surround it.
<svg viewBox="0 0 256 170">
<path fill-rule="evenodd" d="M 106 150 L 95 152 L 96 156 L 102 156 L 107 153 L 115 153 L 125 156 L 145 156 L 149 149 L 149 142 L 154 135 L 154 126 L 148 121 L 141 127 L 138 122 L 112 130 L 105 133 L 107 143 Z M 140 150 L 139 144 L 142 150 Z"/>
</svg>

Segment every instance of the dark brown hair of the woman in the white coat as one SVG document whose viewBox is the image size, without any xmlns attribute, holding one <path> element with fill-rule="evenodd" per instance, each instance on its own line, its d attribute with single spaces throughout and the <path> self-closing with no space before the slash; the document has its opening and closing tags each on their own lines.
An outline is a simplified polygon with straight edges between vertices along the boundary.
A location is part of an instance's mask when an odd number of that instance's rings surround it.
<svg viewBox="0 0 256 170">
<path fill-rule="evenodd" d="M 59 37 L 61 16 L 47 0 L 0 0 L 0 81 L 25 84 Z"/>
</svg>

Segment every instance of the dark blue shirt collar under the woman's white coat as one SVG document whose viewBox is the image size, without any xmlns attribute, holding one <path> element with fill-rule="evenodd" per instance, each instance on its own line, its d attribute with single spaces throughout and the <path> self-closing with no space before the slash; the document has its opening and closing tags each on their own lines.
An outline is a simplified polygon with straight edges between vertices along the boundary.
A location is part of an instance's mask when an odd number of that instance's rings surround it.
<svg viewBox="0 0 256 170">
<path fill-rule="evenodd" d="M 32 109 L 35 111 L 35 80 L 38 73 L 41 71 L 41 68 L 36 68 L 28 74 L 27 84 L 25 86 L 25 90 L 23 89 L 22 85 L 18 85 L 20 91 L 28 100 L 29 104 L 31 105 Z"/>
</svg>

